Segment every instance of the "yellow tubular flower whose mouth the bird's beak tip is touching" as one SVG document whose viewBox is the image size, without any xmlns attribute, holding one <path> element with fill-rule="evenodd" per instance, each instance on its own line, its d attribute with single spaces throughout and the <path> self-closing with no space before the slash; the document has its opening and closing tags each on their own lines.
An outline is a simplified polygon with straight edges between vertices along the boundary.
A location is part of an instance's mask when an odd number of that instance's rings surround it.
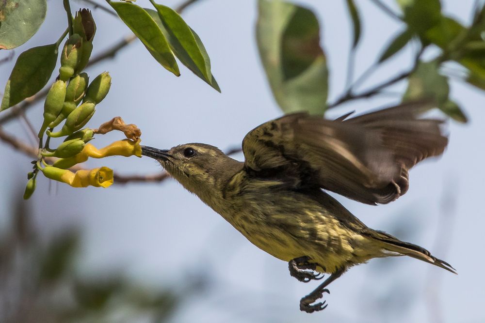
<svg viewBox="0 0 485 323">
<path fill-rule="evenodd" d="M 97 149 L 95 146 L 88 143 L 84 145 L 84 149 L 81 151 L 81 153 L 70 158 L 60 159 L 57 162 L 55 162 L 54 165 L 52 166 L 66 169 L 76 164 L 85 162 L 86 160 L 88 160 L 89 157 L 93 157 L 93 158 L 103 158 L 107 156 L 129 157 L 133 155 L 137 157 L 142 156 L 142 148 L 140 147 L 140 140 L 137 140 L 137 141 L 133 141 L 130 139 L 118 140 L 101 149 Z"/>
</svg>

